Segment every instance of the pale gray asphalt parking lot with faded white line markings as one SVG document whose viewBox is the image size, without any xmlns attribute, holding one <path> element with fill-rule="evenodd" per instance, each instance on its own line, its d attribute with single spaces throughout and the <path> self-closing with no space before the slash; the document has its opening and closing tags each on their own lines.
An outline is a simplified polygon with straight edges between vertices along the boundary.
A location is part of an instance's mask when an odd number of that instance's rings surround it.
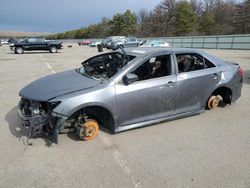
<svg viewBox="0 0 250 188">
<path fill-rule="evenodd" d="M 0 187 L 250 187 L 250 51 L 206 50 L 244 69 L 242 97 L 200 115 L 83 142 L 31 139 L 18 92 L 42 76 L 80 66 L 96 48 L 16 55 L 0 46 Z"/>
</svg>

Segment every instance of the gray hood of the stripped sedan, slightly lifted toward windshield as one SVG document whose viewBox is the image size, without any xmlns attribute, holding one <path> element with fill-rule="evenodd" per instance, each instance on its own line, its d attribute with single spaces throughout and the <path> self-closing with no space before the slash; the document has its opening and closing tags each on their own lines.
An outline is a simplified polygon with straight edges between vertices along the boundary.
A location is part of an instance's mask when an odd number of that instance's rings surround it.
<svg viewBox="0 0 250 188">
<path fill-rule="evenodd" d="M 94 87 L 99 83 L 76 70 L 69 70 L 31 82 L 20 91 L 19 95 L 30 100 L 48 101 L 63 94 Z"/>
</svg>

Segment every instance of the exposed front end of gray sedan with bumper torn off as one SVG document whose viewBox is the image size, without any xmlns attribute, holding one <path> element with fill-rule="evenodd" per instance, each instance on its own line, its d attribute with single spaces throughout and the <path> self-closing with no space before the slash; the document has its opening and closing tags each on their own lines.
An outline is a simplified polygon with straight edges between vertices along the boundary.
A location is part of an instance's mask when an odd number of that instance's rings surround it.
<svg viewBox="0 0 250 188">
<path fill-rule="evenodd" d="M 64 118 L 53 114 L 60 102 L 40 102 L 22 98 L 18 104 L 18 113 L 22 124 L 28 128 L 27 137 L 46 135 L 57 143 L 58 133 L 64 124 Z"/>
</svg>

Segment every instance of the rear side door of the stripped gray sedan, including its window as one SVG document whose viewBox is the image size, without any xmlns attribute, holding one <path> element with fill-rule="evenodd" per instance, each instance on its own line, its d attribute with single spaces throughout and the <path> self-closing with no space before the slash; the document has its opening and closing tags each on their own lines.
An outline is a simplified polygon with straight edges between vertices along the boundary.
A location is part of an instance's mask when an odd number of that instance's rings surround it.
<svg viewBox="0 0 250 188">
<path fill-rule="evenodd" d="M 220 81 L 221 73 L 209 60 L 196 53 L 177 53 L 176 113 L 204 108 L 207 97 Z"/>
</svg>

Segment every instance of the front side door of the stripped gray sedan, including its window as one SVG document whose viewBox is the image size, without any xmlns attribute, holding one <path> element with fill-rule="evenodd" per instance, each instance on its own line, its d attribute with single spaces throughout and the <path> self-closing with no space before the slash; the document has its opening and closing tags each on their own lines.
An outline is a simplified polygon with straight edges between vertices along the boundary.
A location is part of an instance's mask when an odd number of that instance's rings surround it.
<svg viewBox="0 0 250 188">
<path fill-rule="evenodd" d="M 175 110 L 176 76 L 171 55 L 151 57 L 130 73 L 138 81 L 115 86 L 119 126 L 170 116 Z"/>
</svg>

